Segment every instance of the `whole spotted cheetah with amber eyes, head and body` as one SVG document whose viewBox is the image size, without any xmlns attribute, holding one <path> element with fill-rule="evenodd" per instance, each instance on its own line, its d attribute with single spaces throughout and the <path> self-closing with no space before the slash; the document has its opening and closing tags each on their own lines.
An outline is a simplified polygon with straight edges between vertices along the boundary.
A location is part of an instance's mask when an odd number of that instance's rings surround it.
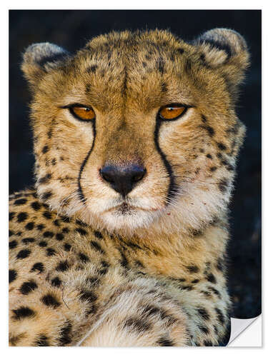
<svg viewBox="0 0 268 357">
<path fill-rule="evenodd" d="M 26 49 L 34 188 L 10 197 L 10 346 L 224 346 L 243 37 Z"/>
</svg>

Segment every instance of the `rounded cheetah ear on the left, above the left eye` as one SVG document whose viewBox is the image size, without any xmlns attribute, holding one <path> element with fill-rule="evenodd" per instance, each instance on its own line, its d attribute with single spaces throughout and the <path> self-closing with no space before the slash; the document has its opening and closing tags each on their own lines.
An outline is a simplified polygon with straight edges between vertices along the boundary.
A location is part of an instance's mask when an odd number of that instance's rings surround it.
<svg viewBox="0 0 268 357">
<path fill-rule="evenodd" d="M 23 55 L 21 69 L 31 84 L 36 84 L 49 69 L 59 66 L 69 53 L 55 44 L 32 44 Z"/>
</svg>

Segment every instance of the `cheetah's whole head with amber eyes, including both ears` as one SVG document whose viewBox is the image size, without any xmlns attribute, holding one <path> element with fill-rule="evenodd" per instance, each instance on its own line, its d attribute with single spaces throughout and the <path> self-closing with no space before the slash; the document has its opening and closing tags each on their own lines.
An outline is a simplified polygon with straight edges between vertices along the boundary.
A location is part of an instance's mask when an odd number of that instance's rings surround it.
<svg viewBox="0 0 268 357">
<path fill-rule="evenodd" d="M 192 44 L 112 33 L 74 56 L 30 46 L 22 69 L 41 200 L 110 231 L 212 219 L 244 136 L 234 101 L 247 64 L 244 39 L 225 29 Z"/>
</svg>

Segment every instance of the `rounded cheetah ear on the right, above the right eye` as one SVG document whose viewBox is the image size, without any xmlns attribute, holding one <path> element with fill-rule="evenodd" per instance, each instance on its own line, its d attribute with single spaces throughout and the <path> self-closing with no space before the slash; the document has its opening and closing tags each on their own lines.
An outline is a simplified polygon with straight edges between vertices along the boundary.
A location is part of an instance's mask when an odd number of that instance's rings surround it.
<svg viewBox="0 0 268 357">
<path fill-rule="evenodd" d="M 230 29 L 212 29 L 199 36 L 194 44 L 199 47 L 207 66 L 222 71 L 229 90 L 235 95 L 249 66 L 249 51 L 244 38 Z"/>
</svg>

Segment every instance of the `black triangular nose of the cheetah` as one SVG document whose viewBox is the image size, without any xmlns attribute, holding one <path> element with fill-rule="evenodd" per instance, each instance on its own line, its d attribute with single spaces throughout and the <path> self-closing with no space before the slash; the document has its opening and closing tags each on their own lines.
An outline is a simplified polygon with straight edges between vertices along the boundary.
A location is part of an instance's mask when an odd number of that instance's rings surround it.
<svg viewBox="0 0 268 357">
<path fill-rule="evenodd" d="M 141 181 L 146 169 L 139 165 L 113 166 L 107 165 L 99 170 L 101 177 L 109 182 L 116 192 L 126 196 L 138 181 Z"/>
</svg>

